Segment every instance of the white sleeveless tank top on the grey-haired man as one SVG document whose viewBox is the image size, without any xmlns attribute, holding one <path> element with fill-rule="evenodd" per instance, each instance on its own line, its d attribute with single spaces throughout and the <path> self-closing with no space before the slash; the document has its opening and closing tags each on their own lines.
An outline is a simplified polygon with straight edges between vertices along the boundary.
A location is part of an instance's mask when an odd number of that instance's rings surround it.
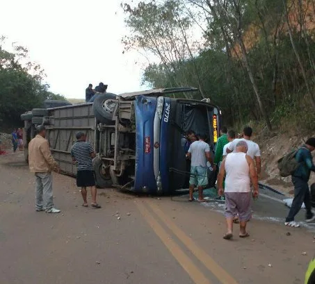
<svg viewBox="0 0 315 284">
<path fill-rule="evenodd" d="M 250 192 L 250 166 L 245 153 L 229 153 L 225 172 L 225 192 Z"/>
</svg>

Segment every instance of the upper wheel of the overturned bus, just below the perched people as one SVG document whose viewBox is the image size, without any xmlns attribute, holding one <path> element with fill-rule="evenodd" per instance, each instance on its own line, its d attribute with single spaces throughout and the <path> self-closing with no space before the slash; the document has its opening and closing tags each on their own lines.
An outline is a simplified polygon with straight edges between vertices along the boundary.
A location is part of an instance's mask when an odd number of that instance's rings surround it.
<svg viewBox="0 0 315 284">
<path fill-rule="evenodd" d="M 93 102 L 94 115 L 98 122 L 113 125 L 116 95 L 111 93 L 98 94 Z"/>
</svg>

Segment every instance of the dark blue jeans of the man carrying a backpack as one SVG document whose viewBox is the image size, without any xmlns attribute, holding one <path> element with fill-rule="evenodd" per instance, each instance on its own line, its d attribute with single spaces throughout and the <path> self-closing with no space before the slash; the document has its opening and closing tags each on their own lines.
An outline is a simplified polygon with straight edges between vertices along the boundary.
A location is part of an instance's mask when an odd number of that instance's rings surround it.
<svg viewBox="0 0 315 284">
<path fill-rule="evenodd" d="M 311 194 L 309 193 L 309 185 L 307 181 L 302 178 L 292 176 L 292 183 L 294 185 L 294 199 L 289 211 L 289 215 L 286 217 L 286 222 L 294 221 L 294 217 L 300 211 L 304 202 L 306 208 L 306 219 L 313 217 L 311 206 Z"/>
</svg>

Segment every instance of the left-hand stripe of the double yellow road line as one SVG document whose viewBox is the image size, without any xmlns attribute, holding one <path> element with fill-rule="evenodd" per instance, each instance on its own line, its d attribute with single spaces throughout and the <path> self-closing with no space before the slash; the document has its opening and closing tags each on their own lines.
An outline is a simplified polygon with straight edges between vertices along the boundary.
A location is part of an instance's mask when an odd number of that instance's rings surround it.
<svg viewBox="0 0 315 284">
<path fill-rule="evenodd" d="M 176 258 L 181 267 L 183 267 L 188 275 L 191 276 L 191 279 L 193 279 L 196 284 L 211 284 L 206 276 L 202 274 L 200 269 L 198 269 L 193 264 L 192 260 L 188 258 L 186 253 L 181 250 L 179 245 L 176 244 L 174 240 L 172 240 L 170 235 L 162 228 L 162 226 L 154 219 L 154 217 L 150 215 L 150 212 L 145 208 L 143 203 L 136 202 L 136 205 L 138 206 L 140 213 L 146 219 L 147 223 L 152 227 L 156 235 L 159 236 L 163 244 L 165 244 L 170 253 L 172 253 L 172 256 Z"/>
</svg>

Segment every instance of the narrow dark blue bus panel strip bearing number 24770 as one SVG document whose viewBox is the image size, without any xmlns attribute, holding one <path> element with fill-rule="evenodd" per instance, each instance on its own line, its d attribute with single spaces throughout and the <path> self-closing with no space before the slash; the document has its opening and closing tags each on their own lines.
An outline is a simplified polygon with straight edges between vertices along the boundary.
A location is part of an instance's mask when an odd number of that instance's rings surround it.
<svg viewBox="0 0 315 284">
<path fill-rule="evenodd" d="M 160 139 L 160 172 L 163 193 L 170 190 L 170 98 L 164 99 L 164 108 L 161 121 L 161 139 Z"/>
</svg>

